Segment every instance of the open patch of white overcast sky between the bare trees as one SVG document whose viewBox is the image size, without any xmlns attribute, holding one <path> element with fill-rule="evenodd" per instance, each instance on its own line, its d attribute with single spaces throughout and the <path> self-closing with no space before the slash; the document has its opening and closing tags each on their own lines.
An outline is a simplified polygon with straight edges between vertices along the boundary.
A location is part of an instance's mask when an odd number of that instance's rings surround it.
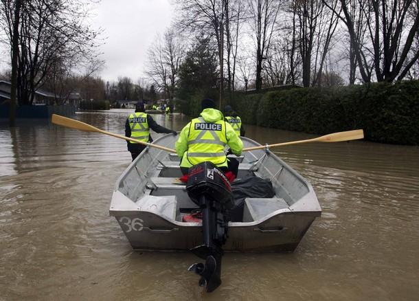
<svg viewBox="0 0 419 301">
<path fill-rule="evenodd" d="M 102 27 L 106 38 L 100 47 L 106 65 L 99 75 L 105 81 L 144 77 L 148 47 L 172 22 L 170 0 L 102 0 L 93 14 L 93 26 Z"/>
</svg>

